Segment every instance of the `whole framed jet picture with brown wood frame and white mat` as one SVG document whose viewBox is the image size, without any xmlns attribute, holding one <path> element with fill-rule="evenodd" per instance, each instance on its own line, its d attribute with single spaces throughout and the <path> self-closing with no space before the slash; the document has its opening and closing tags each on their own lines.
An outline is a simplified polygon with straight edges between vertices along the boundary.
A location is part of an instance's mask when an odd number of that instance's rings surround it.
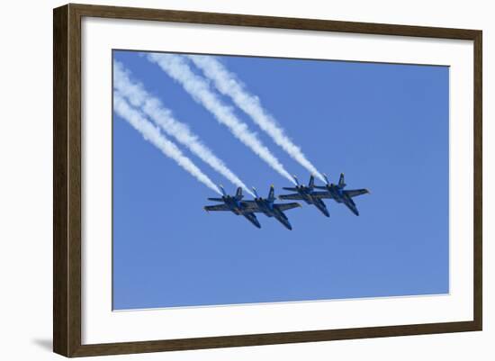
<svg viewBox="0 0 495 361">
<path fill-rule="evenodd" d="M 53 16 L 55 352 L 482 329 L 481 31 Z"/>
</svg>

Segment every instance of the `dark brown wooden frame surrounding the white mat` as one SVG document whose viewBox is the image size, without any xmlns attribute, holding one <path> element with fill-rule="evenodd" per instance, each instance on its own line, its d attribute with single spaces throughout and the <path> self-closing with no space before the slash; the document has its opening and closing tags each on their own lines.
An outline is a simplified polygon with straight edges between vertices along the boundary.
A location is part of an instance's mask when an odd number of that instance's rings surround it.
<svg viewBox="0 0 495 361">
<path fill-rule="evenodd" d="M 462 39 L 474 42 L 474 292 L 472 321 L 328 329 L 209 338 L 81 345 L 81 18 L 242 25 L 321 32 Z M 482 329 L 482 31 L 379 23 L 348 23 L 239 14 L 212 14 L 99 5 L 53 11 L 53 350 L 95 356 L 378 338 Z"/>
</svg>

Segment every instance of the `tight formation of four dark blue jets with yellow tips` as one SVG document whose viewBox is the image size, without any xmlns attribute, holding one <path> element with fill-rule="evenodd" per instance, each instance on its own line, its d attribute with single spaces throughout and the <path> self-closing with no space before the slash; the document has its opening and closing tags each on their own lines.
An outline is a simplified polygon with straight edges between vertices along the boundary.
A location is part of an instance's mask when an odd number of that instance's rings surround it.
<svg viewBox="0 0 495 361">
<path fill-rule="evenodd" d="M 344 174 L 340 174 L 338 184 L 329 182 L 329 178 L 324 175 L 326 185 L 315 185 L 314 176 L 310 176 L 310 182 L 308 185 L 302 185 L 296 176 L 294 181 L 296 186 L 283 187 L 286 191 L 293 192 L 292 194 L 282 194 L 278 197 L 280 200 L 300 200 L 307 204 L 314 205 L 323 215 L 330 216 L 327 205 L 323 202 L 323 199 L 333 199 L 337 203 L 344 203 L 347 208 L 356 215 L 359 215 L 357 211 L 356 203 L 353 198 L 361 194 L 369 194 L 367 189 L 344 189 L 346 187 L 346 181 Z M 263 213 L 266 217 L 275 218 L 275 220 L 281 222 L 288 230 L 292 230 L 293 226 L 285 215 L 285 211 L 289 211 L 293 208 L 301 207 L 300 203 L 275 203 L 275 189 L 274 185 L 270 186 L 268 196 L 263 198 L 257 194 L 257 190 L 253 188 L 256 197 L 253 200 L 245 200 L 242 194 L 242 188 L 238 187 L 236 194 L 230 195 L 225 192 L 223 186 L 220 185 L 221 198 L 208 198 L 209 201 L 219 202 L 215 205 L 207 205 L 204 210 L 207 212 L 233 212 L 236 215 L 244 216 L 247 221 L 250 221 L 255 227 L 261 228 L 261 224 L 257 220 L 255 213 Z"/>
</svg>

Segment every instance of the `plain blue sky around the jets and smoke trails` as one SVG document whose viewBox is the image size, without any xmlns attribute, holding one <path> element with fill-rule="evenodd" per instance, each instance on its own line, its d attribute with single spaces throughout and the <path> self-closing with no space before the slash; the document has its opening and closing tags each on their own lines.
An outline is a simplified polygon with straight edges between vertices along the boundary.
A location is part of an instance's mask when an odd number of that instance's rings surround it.
<svg viewBox="0 0 495 361">
<path fill-rule="evenodd" d="M 156 64 L 134 51 L 113 58 L 247 185 L 263 196 L 271 184 L 276 194 L 291 186 Z M 219 59 L 320 172 L 334 182 L 344 172 L 347 188 L 372 194 L 355 198 L 359 217 L 326 200 L 330 218 L 303 204 L 286 212 L 293 230 L 263 214 L 258 230 L 231 212 L 204 212 L 216 194 L 113 113 L 113 308 L 448 293 L 448 68 Z M 307 183 L 303 167 L 236 114 Z"/>
</svg>

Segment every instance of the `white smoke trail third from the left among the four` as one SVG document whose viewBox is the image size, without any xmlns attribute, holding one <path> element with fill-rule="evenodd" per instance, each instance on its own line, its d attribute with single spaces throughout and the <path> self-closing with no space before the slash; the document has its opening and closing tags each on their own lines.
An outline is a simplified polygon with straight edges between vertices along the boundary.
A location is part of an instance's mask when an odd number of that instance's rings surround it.
<svg viewBox="0 0 495 361">
<path fill-rule="evenodd" d="M 266 148 L 266 146 L 257 138 L 257 134 L 250 131 L 245 122 L 241 122 L 238 117 L 232 113 L 229 106 L 223 104 L 220 98 L 211 91 L 208 82 L 203 77 L 193 73 L 189 65 L 184 62 L 184 58 L 172 54 L 148 54 L 148 60 L 156 63 L 169 77 L 179 82 L 184 90 L 193 96 L 193 99 L 202 104 L 216 120 L 227 126 L 229 131 L 249 149 L 253 150 L 259 158 L 275 169 L 281 176 L 289 179 L 295 185 L 293 177 L 285 170 L 280 161 Z"/>
</svg>

